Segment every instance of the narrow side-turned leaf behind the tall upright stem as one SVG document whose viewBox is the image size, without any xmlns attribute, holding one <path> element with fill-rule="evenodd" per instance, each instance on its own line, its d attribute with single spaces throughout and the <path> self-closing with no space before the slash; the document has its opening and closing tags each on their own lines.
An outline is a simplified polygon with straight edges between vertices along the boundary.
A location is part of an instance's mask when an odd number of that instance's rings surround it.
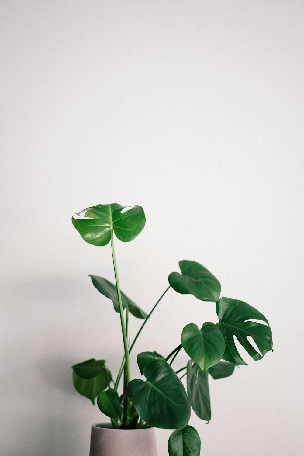
<svg viewBox="0 0 304 456">
<path fill-rule="evenodd" d="M 98 275 L 90 275 L 94 287 L 104 296 L 113 302 L 115 312 L 119 312 L 119 304 L 117 298 L 117 288 L 112 282 Z M 121 302 L 123 309 L 129 307 L 129 311 L 137 318 L 147 318 L 147 314 L 134 301 L 128 298 L 121 290 Z"/>
</svg>

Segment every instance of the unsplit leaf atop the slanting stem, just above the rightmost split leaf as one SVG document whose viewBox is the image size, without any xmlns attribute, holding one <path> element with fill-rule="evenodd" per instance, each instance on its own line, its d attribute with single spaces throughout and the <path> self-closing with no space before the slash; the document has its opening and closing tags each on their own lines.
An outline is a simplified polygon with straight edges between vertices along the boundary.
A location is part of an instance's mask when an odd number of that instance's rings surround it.
<svg viewBox="0 0 304 456">
<path fill-rule="evenodd" d="M 181 275 L 171 272 L 168 277 L 171 287 L 183 295 L 193 295 L 201 301 L 216 302 L 220 297 L 221 284 L 196 261 L 183 260 L 179 262 Z"/>
</svg>

